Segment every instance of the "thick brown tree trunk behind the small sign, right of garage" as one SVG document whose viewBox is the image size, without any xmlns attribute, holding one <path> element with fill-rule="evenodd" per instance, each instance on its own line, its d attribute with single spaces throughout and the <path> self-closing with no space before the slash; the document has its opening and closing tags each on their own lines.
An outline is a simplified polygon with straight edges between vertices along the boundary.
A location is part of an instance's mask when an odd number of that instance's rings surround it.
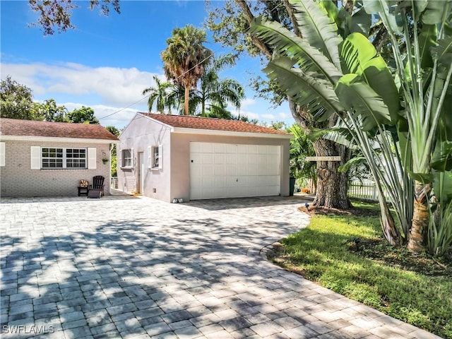
<svg viewBox="0 0 452 339">
<path fill-rule="evenodd" d="M 317 162 L 317 189 L 314 198 L 315 206 L 326 208 L 350 208 L 347 197 L 347 173 L 339 172 L 340 165 L 350 160 L 350 150 L 333 141 L 319 139 L 314 141 L 317 156 L 340 155 L 340 161 Z"/>
</svg>

